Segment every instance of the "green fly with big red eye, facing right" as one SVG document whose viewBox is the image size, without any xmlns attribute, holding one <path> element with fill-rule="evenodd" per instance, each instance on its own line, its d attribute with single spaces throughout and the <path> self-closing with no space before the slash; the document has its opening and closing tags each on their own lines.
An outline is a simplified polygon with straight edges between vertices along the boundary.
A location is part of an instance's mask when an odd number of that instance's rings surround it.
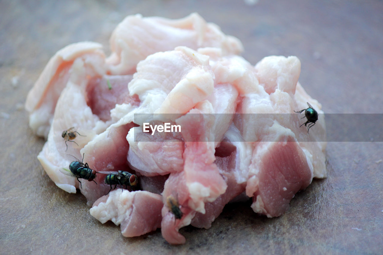
<svg viewBox="0 0 383 255">
<path fill-rule="evenodd" d="M 106 195 L 109 194 L 109 192 L 112 190 L 112 185 L 115 185 L 115 188 L 117 185 L 125 185 L 125 188 L 128 188 L 128 185 L 131 186 L 132 190 L 136 188 L 138 184 L 138 178 L 137 175 L 131 174 L 126 171 L 100 171 L 98 173 L 106 173 L 105 177 L 105 183 L 110 185 L 110 190 Z M 114 189 L 115 189 L 114 188 Z M 114 190 L 113 189 L 113 190 Z"/>
</svg>

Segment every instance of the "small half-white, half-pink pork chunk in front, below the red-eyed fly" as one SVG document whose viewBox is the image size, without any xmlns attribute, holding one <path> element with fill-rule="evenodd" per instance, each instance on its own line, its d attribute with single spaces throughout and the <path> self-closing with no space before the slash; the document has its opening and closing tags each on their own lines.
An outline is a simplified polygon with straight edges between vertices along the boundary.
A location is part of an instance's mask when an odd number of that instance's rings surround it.
<svg viewBox="0 0 383 255">
<path fill-rule="evenodd" d="M 121 224 L 125 237 L 140 236 L 161 226 L 161 195 L 148 191 L 114 190 L 101 197 L 89 210 L 101 223 Z"/>
</svg>

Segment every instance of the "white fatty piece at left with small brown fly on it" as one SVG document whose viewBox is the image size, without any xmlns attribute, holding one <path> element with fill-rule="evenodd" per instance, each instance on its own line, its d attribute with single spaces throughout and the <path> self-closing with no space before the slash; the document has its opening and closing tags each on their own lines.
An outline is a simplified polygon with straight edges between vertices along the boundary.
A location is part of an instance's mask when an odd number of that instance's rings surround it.
<svg viewBox="0 0 383 255">
<path fill-rule="evenodd" d="M 70 102 L 71 107 L 67 107 L 68 102 Z M 77 136 L 74 139 L 78 145 L 74 142 L 67 142 L 68 149 L 66 150 L 65 140 L 61 134 L 62 131 L 70 127 L 75 127 L 74 130 L 82 136 Z M 76 192 L 79 182 L 74 177 L 62 174 L 59 170 L 62 168 L 69 169 L 72 159 L 67 154 L 81 160 L 80 149 L 91 141 L 97 132 L 105 128 L 105 123 L 93 115 L 87 106 L 81 88 L 68 82 L 57 101 L 48 140 L 37 157 L 46 173 L 59 188 L 70 193 Z"/>
</svg>

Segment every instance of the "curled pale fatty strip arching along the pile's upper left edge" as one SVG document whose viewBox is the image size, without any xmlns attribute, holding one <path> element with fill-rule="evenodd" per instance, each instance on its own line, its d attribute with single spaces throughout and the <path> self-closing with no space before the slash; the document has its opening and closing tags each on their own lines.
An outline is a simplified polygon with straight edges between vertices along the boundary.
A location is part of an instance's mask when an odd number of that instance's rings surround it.
<svg viewBox="0 0 383 255">
<path fill-rule="evenodd" d="M 67 85 L 76 59 L 82 60 L 89 77 L 105 74 L 105 54 L 99 43 L 70 44 L 54 54 L 29 91 L 25 103 L 29 126 L 38 136 L 48 136 L 57 100 Z"/>
</svg>

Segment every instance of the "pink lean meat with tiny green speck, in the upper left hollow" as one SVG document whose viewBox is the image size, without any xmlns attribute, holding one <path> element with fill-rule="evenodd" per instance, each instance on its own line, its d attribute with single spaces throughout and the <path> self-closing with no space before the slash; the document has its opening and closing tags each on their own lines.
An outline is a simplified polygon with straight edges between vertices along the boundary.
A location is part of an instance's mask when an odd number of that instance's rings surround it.
<svg viewBox="0 0 383 255">
<path fill-rule="evenodd" d="M 131 103 L 138 106 L 140 101 L 137 95 L 130 96 L 128 83 L 133 75 L 104 75 L 89 80 L 86 89 L 86 99 L 92 113 L 102 121 L 111 119 L 110 110 L 116 104 Z"/>
</svg>

